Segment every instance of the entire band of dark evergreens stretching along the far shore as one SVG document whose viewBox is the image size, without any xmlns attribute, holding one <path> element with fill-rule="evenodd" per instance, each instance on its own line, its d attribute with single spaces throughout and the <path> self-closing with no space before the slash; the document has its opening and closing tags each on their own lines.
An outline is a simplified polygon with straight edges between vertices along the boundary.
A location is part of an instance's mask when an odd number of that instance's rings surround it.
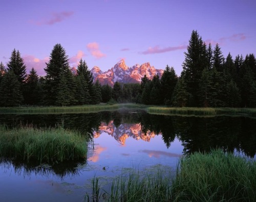
<svg viewBox="0 0 256 202">
<path fill-rule="evenodd" d="M 161 78 L 146 75 L 140 84 L 116 82 L 113 87 L 93 81 L 87 63 L 80 60 L 77 73 L 69 67 L 66 50 L 56 44 L 39 77 L 14 49 L 5 69 L 0 63 L 0 106 L 71 106 L 103 103 L 141 103 L 174 107 L 256 107 L 256 59 L 253 54 L 226 58 L 191 33 L 180 77 L 166 66 Z"/>
</svg>

